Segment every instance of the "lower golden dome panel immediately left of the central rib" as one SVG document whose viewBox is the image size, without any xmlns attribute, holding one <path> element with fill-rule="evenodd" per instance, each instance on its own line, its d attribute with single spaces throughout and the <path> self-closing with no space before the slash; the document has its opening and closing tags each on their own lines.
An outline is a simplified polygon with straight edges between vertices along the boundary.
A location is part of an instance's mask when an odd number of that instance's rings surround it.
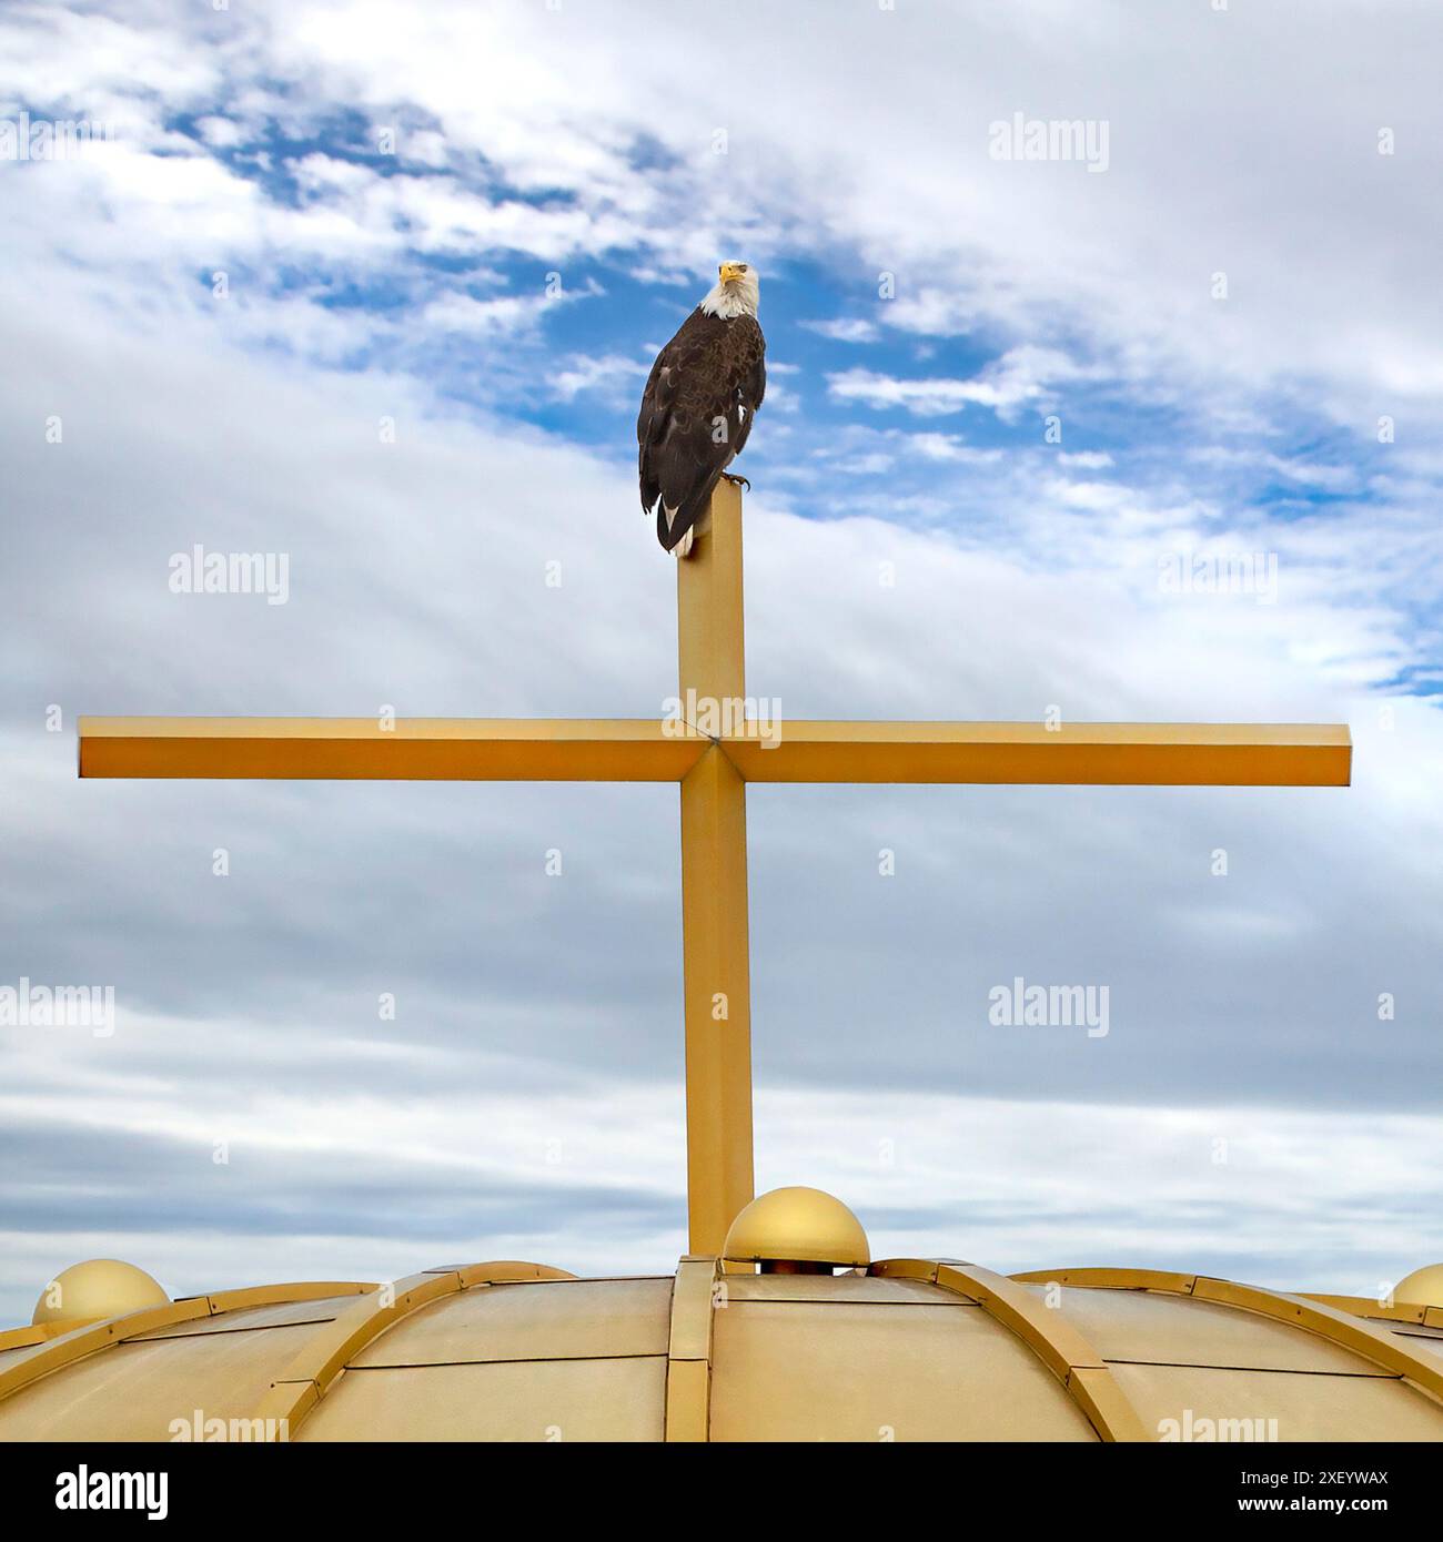
<svg viewBox="0 0 1443 1542">
<path fill-rule="evenodd" d="M 347 1371 L 295 1439 L 662 1440 L 665 1409 L 665 1354 L 397 1366 Z"/>
</svg>

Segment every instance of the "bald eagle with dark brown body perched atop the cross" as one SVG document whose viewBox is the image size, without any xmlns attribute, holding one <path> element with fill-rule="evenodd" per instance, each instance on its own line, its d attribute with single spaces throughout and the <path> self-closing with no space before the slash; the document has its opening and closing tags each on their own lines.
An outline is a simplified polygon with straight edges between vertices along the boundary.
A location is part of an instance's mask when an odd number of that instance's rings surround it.
<svg viewBox="0 0 1443 1542">
<path fill-rule="evenodd" d="M 642 509 L 662 550 L 685 557 L 711 489 L 752 432 L 767 390 L 756 270 L 724 262 L 707 298 L 656 356 L 636 419 Z"/>
</svg>

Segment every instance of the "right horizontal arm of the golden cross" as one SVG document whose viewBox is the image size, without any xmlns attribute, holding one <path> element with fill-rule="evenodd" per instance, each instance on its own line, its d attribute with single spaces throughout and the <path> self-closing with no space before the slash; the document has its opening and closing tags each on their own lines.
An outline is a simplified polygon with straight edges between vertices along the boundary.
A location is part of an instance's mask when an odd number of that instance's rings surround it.
<svg viewBox="0 0 1443 1542">
<path fill-rule="evenodd" d="M 749 723 L 747 782 L 1347 786 L 1343 723 Z"/>
</svg>

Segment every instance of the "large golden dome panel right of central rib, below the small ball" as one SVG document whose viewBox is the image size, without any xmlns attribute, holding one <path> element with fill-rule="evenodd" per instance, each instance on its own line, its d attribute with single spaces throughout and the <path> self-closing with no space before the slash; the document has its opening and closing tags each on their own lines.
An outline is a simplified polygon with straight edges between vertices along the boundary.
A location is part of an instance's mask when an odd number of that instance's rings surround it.
<svg viewBox="0 0 1443 1542">
<path fill-rule="evenodd" d="M 1097 1439 L 1022 1340 L 937 1295 L 937 1306 L 733 1300 L 715 1314 L 711 1439 Z"/>
</svg>

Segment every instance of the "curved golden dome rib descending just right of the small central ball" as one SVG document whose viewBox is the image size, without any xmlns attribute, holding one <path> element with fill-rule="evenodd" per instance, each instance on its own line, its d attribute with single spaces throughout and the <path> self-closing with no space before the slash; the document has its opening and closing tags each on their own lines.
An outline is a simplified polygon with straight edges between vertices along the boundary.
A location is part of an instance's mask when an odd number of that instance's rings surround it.
<svg viewBox="0 0 1443 1542">
<path fill-rule="evenodd" d="M 924 1258 L 886 1258 L 869 1274 L 883 1278 L 931 1280 L 945 1291 L 975 1300 L 997 1323 L 1016 1334 L 1062 1382 L 1099 1439 L 1113 1443 L 1150 1442 L 1131 1399 L 1093 1345 L 1060 1312 L 1042 1306 L 1031 1291 L 978 1264 Z"/>
</svg>

